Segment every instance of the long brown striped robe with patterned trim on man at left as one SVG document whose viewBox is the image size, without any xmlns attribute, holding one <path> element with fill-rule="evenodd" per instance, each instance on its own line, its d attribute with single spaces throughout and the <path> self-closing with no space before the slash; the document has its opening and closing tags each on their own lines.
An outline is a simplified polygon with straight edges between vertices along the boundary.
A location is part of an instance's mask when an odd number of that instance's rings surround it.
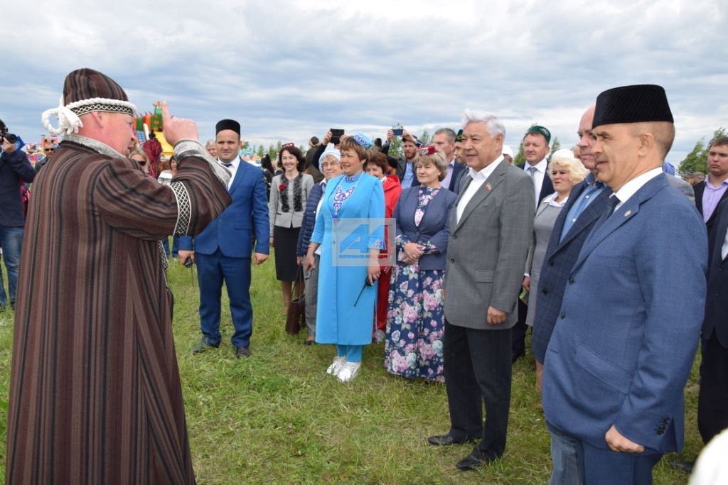
<svg viewBox="0 0 728 485">
<path fill-rule="evenodd" d="M 73 139 L 33 184 L 6 482 L 194 483 L 159 249 L 178 225 L 177 196 L 106 145 Z M 230 203 L 202 159 L 183 159 L 175 182 L 189 194 L 190 235 Z"/>
</svg>

